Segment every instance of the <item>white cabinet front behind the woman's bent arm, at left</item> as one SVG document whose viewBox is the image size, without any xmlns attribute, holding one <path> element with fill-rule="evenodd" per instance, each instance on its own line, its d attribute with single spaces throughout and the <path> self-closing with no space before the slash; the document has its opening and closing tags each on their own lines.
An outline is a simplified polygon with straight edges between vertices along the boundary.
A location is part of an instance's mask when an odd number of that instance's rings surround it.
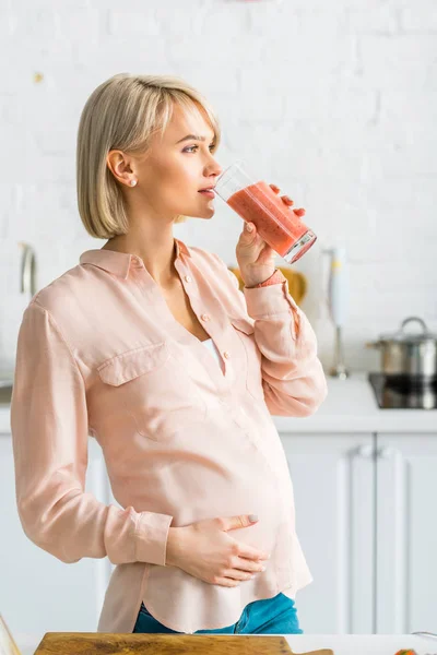
<svg viewBox="0 0 437 655">
<path fill-rule="evenodd" d="M 99 446 L 90 440 L 86 491 L 108 502 L 106 469 Z M 82 559 L 66 564 L 35 546 L 24 534 L 15 502 L 12 440 L 0 434 L 0 612 L 13 634 L 95 631 L 110 565 Z"/>
</svg>

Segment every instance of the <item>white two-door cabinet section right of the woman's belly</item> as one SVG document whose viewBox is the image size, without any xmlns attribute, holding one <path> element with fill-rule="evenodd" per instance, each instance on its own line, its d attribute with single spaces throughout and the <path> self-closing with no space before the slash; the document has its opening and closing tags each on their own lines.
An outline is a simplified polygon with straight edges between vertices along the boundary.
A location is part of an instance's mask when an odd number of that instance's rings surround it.
<svg viewBox="0 0 437 655">
<path fill-rule="evenodd" d="M 291 434 L 308 633 L 437 632 L 437 433 Z"/>
</svg>

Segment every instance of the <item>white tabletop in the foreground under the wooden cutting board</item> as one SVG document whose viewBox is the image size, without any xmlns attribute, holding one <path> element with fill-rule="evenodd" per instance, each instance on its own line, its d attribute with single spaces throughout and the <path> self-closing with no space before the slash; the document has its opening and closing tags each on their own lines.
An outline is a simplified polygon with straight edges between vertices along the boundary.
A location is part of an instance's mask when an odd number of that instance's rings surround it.
<svg viewBox="0 0 437 655">
<path fill-rule="evenodd" d="M 334 655 L 394 655 L 414 648 L 417 655 L 437 653 L 437 641 L 411 634 L 284 634 L 294 653 L 332 648 Z M 14 635 L 22 655 L 34 655 L 43 635 Z M 238 636 L 237 636 L 238 639 Z"/>
</svg>

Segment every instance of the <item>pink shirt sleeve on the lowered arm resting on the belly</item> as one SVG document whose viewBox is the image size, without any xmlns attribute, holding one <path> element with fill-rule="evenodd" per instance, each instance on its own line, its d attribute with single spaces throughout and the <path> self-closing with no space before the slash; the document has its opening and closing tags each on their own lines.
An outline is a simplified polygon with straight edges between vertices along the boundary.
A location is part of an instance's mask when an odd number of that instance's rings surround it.
<svg viewBox="0 0 437 655">
<path fill-rule="evenodd" d="M 85 492 L 85 384 L 52 315 L 36 301 L 20 326 L 11 401 L 15 490 L 27 537 L 63 562 L 108 557 L 165 565 L 172 516 Z"/>
</svg>

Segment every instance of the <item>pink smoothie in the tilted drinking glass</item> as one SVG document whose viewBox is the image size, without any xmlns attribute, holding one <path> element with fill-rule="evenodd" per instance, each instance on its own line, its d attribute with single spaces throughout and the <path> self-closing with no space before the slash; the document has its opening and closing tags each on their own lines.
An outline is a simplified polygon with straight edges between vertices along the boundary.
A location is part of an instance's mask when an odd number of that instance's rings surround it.
<svg viewBox="0 0 437 655">
<path fill-rule="evenodd" d="M 265 182 L 240 189 L 231 195 L 227 204 L 241 218 L 253 223 L 261 238 L 281 257 L 308 231 L 308 227 L 284 205 L 281 198 Z M 308 248 L 310 245 L 308 243 Z"/>
</svg>

